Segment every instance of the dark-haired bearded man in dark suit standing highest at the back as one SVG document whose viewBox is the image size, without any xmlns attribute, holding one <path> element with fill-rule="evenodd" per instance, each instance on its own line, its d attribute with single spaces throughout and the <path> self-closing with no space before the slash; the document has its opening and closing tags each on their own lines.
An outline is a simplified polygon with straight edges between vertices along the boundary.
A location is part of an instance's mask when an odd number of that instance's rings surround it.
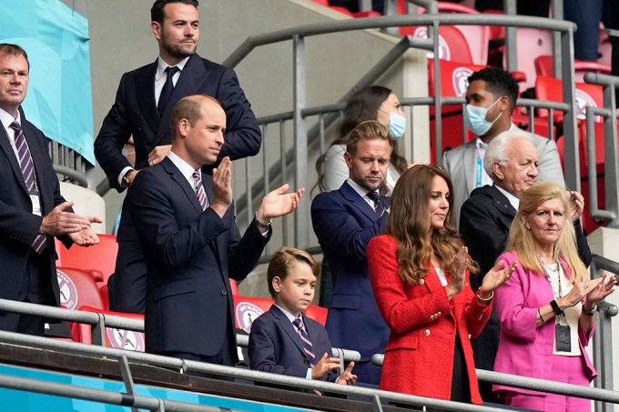
<svg viewBox="0 0 619 412">
<path fill-rule="evenodd" d="M 119 192 L 132 185 L 140 170 L 159 163 L 167 155 L 170 113 L 184 96 L 212 95 L 226 111 L 226 143 L 219 160 L 224 156 L 232 160 L 255 156 L 262 140 L 256 117 L 234 71 L 196 54 L 198 1 L 157 0 L 151 8 L 151 20 L 159 48 L 157 61 L 123 75 L 116 102 L 95 141 L 96 160 L 106 172 L 110 186 Z M 136 147 L 135 169 L 122 154 L 130 136 Z M 110 308 L 143 313 L 146 266 L 127 203 L 126 198 L 118 228 L 117 265 L 109 283 Z"/>
</svg>

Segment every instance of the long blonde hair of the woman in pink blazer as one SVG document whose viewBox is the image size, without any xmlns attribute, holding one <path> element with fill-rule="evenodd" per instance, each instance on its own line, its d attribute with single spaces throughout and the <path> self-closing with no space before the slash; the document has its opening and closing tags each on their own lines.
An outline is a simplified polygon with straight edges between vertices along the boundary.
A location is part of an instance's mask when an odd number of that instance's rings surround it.
<svg viewBox="0 0 619 412">
<path fill-rule="evenodd" d="M 572 272 L 572 282 L 580 282 L 588 278 L 587 268 L 584 266 L 580 256 L 578 256 L 576 236 L 572 220 L 569 217 L 571 215 L 571 207 L 568 201 L 568 194 L 563 187 L 555 183 L 538 183 L 523 193 L 520 199 L 520 206 L 518 207 L 518 216 L 513 219 L 512 227 L 510 228 L 507 250 L 518 253 L 520 264 L 525 269 L 533 270 L 533 272 L 543 275 L 543 267 L 535 248 L 535 238 L 531 230 L 524 225 L 523 217 L 526 218 L 531 215 L 543 202 L 554 198 L 561 200 L 565 216 L 563 230 L 554 245 L 554 256 L 563 257 Z"/>
</svg>

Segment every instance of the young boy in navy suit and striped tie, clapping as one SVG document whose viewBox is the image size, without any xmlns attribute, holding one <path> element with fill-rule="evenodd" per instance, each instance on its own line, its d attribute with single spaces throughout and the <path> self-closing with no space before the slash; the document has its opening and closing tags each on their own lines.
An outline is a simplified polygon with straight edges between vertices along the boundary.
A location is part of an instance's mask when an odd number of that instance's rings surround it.
<svg viewBox="0 0 619 412">
<path fill-rule="evenodd" d="M 250 367 L 262 372 L 354 385 L 354 362 L 340 375 L 340 359 L 330 357 L 331 344 L 322 325 L 303 311 L 311 304 L 319 265 L 309 253 L 280 248 L 267 270 L 269 293 L 275 300 L 269 312 L 251 324 Z"/>
</svg>

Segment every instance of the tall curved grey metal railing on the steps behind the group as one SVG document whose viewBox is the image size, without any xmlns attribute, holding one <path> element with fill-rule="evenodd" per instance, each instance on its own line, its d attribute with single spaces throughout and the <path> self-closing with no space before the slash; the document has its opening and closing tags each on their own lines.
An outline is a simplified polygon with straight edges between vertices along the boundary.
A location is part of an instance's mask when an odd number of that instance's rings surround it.
<svg viewBox="0 0 619 412">
<path fill-rule="evenodd" d="M 292 129 L 292 142 L 288 145 L 280 144 L 281 148 L 281 160 L 282 164 L 275 166 L 269 166 L 264 150 L 262 157 L 258 159 L 250 159 L 246 162 L 246 170 L 252 169 L 250 164 L 252 162 L 262 162 L 261 166 L 263 170 L 269 170 L 268 177 L 260 176 L 256 178 L 248 173 L 250 179 L 246 182 L 244 195 L 240 196 L 243 200 L 238 203 L 239 211 L 242 213 L 242 207 L 251 205 L 253 196 L 256 193 L 268 192 L 269 187 L 266 184 L 276 181 L 278 177 L 283 177 L 284 174 L 288 177 L 288 180 L 294 187 L 310 187 L 311 182 L 308 179 L 309 162 L 308 152 L 314 147 L 318 146 L 320 140 L 319 128 L 326 128 L 330 126 L 330 118 L 320 118 L 316 121 L 315 127 L 309 130 L 309 113 L 320 112 L 319 107 L 314 107 L 309 110 L 307 107 L 307 82 L 306 71 L 307 61 L 305 58 L 305 43 L 304 39 L 314 35 L 328 35 L 334 33 L 341 33 L 347 31 L 365 30 L 371 28 L 386 28 L 386 27 L 401 27 L 411 25 L 427 25 L 429 26 L 431 50 L 434 55 L 439 55 L 439 42 L 438 36 L 434 35 L 438 33 L 440 25 L 499 25 L 505 27 L 534 27 L 538 29 L 544 29 L 553 31 L 557 34 L 559 43 L 561 45 L 561 54 L 568 56 L 563 59 L 562 65 L 562 77 L 563 77 L 563 96 L 564 96 L 564 116 L 563 116 L 563 132 L 566 138 L 565 144 L 565 164 L 570 167 L 565 169 L 565 177 L 567 185 L 575 190 L 580 189 L 580 171 L 578 169 L 578 152 L 576 148 L 576 117 L 573 111 L 574 101 L 574 83 L 573 83 L 573 30 L 574 25 L 571 22 L 564 22 L 558 20 L 552 20 L 541 17 L 528 17 L 522 19 L 521 17 L 514 15 L 392 15 L 383 17 L 370 17 L 361 19 L 341 20 L 337 22 L 321 23 L 316 25 L 305 25 L 301 27 L 295 27 L 290 29 L 279 30 L 273 33 L 264 35 L 252 35 L 245 40 L 237 50 L 235 50 L 224 61 L 224 65 L 234 67 L 238 65 L 247 55 L 249 55 L 255 48 L 262 45 L 272 45 L 281 42 L 292 42 L 293 57 L 291 65 L 293 67 L 293 110 L 291 112 L 281 113 L 268 118 L 261 119 L 261 126 L 263 131 L 269 129 L 269 126 L 276 125 L 281 132 L 285 130 L 285 122 L 289 120 Z M 428 44 L 417 43 L 417 41 L 409 40 L 411 47 L 427 49 Z M 401 43 L 399 44 L 401 45 Z M 394 48 L 395 49 L 395 48 Z M 433 70 L 435 73 L 440 73 L 440 61 L 434 59 Z M 380 74 L 380 73 L 379 73 Z M 377 78 L 377 77 L 376 77 Z M 354 92 L 357 85 L 350 89 L 350 92 Z M 441 90 L 441 76 L 435 75 L 435 90 Z M 347 95 L 349 95 L 347 94 Z M 432 98 L 431 104 L 435 107 L 435 125 L 436 125 L 436 159 L 437 162 L 441 162 L 441 106 L 443 106 L 447 99 L 441 97 L 441 94 L 435 94 Z M 344 103 L 347 99 L 341 99 L 340 104 Z M 404 99 L 406 100 L 406 99 Z M 313 132 L 310 133 L 310 132 Z M 322 135 L 324 136 L 324 135 Z M 283 138 L 283 136 L 280 136 Z M 413 137 L 414 138 L 414 137 Z M 427 138 L 427 136 L 424 136 Z M 269 136 L 264 136 L 265 147 L 269 144 Z M 285 147 L 291 146 L 291 149 L 285 149 Z M 321 145 L 324 146 L 324 145 Z M 248 163 L 249 162 L 249 163 Z M 289 176 L 288 169 L 292 169 L 292 176 Z M 273 171 L 271 173 L 271 170 Z M 278 176 L 279 170 L 279 176 Z M 262 189 L 260 189 L 262 187 Z M 239 193 L 236 190 L 236 193 Z M 245 215 L 250 216 L 250 212 L 245 210 Z M 249 222 L 249 221 L 248 221 Z M 299 208 L 294 214 L 294 229 L 293 229 L 293 241 L 290 242 L 286 239 L 287 245 L 293 244 L 299 248 L 305 248 L 309 246 L 309 196 L 304 196 L 301 200 Z M 246 222 L 247 223 L 247 222 Z M 285 225 L 286 226 L 286 225 Z"/>
</svg>

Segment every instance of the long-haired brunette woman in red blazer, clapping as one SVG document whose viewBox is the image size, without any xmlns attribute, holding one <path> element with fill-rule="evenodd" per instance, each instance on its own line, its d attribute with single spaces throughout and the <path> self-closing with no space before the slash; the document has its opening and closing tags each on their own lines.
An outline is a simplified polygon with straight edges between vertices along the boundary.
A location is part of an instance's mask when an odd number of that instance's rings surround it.
<svg viewBox="0 0 619 412">
<path fill-rule="evenodd" d="M 386 235 L 368 246 L 371 286 L 391 328 L 381 389 L 481 404 L 470 339 L 514 266 L 492 269 L 472 291 L 477 269 L 452 226 L 452 192 L 444 170 L 411 167 L 393 190 Z"/>
</svg>

